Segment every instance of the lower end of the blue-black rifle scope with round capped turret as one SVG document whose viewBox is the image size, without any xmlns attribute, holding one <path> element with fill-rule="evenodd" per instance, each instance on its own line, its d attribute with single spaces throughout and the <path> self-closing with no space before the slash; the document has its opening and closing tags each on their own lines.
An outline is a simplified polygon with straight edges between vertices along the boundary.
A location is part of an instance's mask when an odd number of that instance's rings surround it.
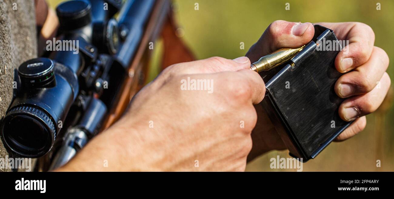
<svg viewBox="0 0 394 199">
<path fill-rule="evenodd" d="M 72 70 L 49 58 L 35 58 L 18 69 L 21 85 L 0 124 L 4 146 L 21 157 L 41 157 L 56 135 L 79 91 Z"/>
</svg>

